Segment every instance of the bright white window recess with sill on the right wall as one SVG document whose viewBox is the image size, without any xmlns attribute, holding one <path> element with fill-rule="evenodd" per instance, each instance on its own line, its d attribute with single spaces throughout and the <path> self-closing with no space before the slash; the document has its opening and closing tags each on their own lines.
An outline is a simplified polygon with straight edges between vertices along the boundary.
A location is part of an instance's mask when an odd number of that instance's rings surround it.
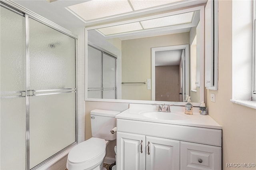
<svg viewBox="0 0 256 170">
<path fill-rule="evenodd" d="M 256 109 L 255 9 L 255 0 L 232 1 L 232 99 L 230 101 L 253 109 Z"/>
</svg>

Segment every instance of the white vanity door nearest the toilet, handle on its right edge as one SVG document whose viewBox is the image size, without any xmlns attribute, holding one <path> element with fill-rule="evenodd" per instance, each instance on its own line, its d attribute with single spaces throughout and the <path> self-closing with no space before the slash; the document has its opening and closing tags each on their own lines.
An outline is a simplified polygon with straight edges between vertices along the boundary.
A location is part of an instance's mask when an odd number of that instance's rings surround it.
<svg viewBox="0 0 256 170">
<path fill-rule="evenodd" d="M 117 169 L 145 170 L 145 136 L 117 132 Z"/>
</svg>

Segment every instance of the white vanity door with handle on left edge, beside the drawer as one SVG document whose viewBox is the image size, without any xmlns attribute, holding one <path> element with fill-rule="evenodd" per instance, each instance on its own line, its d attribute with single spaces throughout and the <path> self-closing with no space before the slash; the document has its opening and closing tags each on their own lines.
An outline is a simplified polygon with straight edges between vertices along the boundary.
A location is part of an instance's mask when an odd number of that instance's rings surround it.
<svg viewBox="0 0 256 170">
<path fill-rule="evenodd" d="M 146 136 L 146 170 L 179 170 L 180 141 Z"/>
</svg>

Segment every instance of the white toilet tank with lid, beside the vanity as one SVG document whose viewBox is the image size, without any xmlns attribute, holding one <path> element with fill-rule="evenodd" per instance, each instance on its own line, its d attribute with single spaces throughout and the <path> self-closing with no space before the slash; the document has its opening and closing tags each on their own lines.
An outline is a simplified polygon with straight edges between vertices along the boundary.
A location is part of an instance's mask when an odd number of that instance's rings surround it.
<svg viewBox="0 0 256 170">
<path fill-rule="evenodd" d="M 116 127 L 116 118 L 120 112 L 94 109 L 91 111 L 92 137 L 115 140 L 116 133 L 110 133 Z"/>
</svg>

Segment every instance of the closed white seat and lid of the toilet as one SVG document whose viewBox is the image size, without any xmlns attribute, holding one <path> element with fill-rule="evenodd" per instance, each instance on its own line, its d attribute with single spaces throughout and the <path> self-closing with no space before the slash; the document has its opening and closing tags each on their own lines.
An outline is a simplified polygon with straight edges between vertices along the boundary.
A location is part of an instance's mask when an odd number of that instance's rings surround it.
<svg viewBox="0 0 256 170">
<path fill-rule="evenodd" d="M 87 169 L 98 165 L 106 154 L 106 142 L 101 138 L 90 138 L 74 146 L 68 154 L 68 169 Z"/>
</svg>

